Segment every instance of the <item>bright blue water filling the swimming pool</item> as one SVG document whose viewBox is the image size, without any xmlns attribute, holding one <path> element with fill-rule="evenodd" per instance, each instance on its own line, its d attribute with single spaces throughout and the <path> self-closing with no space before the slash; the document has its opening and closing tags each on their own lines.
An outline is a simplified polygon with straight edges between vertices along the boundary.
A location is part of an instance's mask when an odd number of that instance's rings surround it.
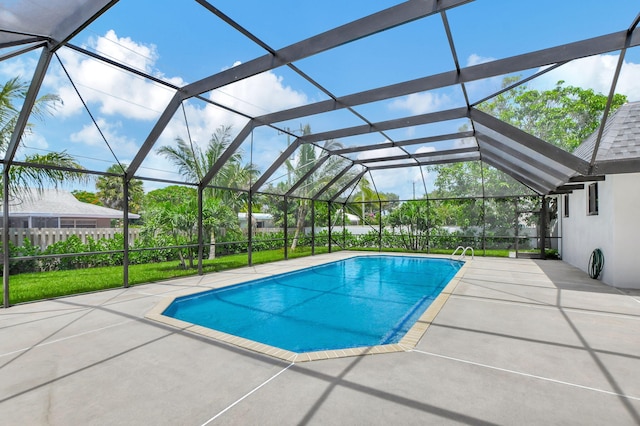
<svg viewBox="0 0 640 426">
<path fill-rule="evenodd" d="M 163 314 L 298 353 L 397 343 L 461 266 L 358 256 L 177 298 Z"/>
</svg>

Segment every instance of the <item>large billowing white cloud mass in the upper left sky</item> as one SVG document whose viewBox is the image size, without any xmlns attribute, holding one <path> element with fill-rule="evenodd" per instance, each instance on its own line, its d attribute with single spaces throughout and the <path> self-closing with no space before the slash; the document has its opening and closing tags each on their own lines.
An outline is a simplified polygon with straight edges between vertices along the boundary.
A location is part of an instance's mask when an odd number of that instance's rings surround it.
<svg viewBox="0 0 640 426">
<path fill-rule="evenodd" d="M 147 74 L 155 75 L 176 86 L 186 84 L 181 77 L 166 77 L 157 70 L 156 61 L 160 52 L 154 45 L 145 45 L 129 37 L 120 37 L 113 30 L 108 31 L 104 36 L 88 40 L 84 47 Z M 130 161 L 147 137 L 149 125 L 153 124 L 165 109 L 173 96 L 173 91 L 71 50 L 61 50 L 60 56 L 100 129 L 114 147 L 118 159 L 124 162 Z M 63 99 L 64 105 L 56 111 L 56 116 L 61 121 L 69 119 L 66 122 L 69 126 L 72 124 L 71 117 L 77 120 L 82 114 L 86 116 L 86 113 L 83 113 L 84 106 L 64 71 L 56 67 L 55 62 L 52 64 L 54 65 L 47 73 L 45 86 L 49 92 L 58 93 Z M 234 66 L 237 65 L 239 63 L 234 64 Z M 288 86 L 281 76 L 272 71 L 230 84 L 203 96 L 208 96 L 215 102 L 248 115 L 262 115 L 308 102 L 306 94 Z M 248 121 L 244 116 L 197 99 L 186 101 L 183 105 L 191 139 L 201 146 L 209 141 L 220 125 L 232 126 L 233 136 L 235 136 Z M 137 124 L 143 122 L 147 124 L 142 126 Z M 146 130 L 140 131 L 141 128 Z M 180 179 L 180 176 L 173 172 L 175 167 L 155 152 L 160 146 L 174 144 L 176 137 L 183 139 L 189 137 L 182 109 L 179 109 L 170 120 L 154 149 L 143 162 L 142 175 Z M 102 137 L 93 124 L 87 124 L 75 131 L 69 136 L 69 140 L 75 144 L 83 144 L 88 150 L 87 155 L 90 156 L 100 156 L 95 153 L 105 149 Z M 260 161 L 255 156 L 253 160 L 256 163 Z"/>
</svg>

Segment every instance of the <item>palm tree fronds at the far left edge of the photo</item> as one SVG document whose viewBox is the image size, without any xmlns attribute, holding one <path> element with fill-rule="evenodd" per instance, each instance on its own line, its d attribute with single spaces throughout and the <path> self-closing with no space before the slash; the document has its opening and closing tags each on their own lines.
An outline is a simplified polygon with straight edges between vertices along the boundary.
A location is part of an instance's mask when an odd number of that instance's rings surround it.
<svg viewBox="0 0 640 426">
<path fill-rule="evenodd" d="M 9 146 L 11 136 L 20 115 L 20 109 L 17 105 L 24 103 L 28 89 L 29 85 L 20 80 L 19 77 L 12 78 L 0 88 L 0 150 L 2 151 L 6 150 Z M 61 99 L 57 95 L 43 95 L 36 100 L 31 111 L 31 116 L 38 120 L 43 120 L 47 114 L 55 110 L 59 103 L 61 103 Z M 29 133 L 32 128 L 33 124 L 27 123 L 25 133 Z M 26 155 L 21 161 L 66 169 L 81 170 L 83 168 L 65 151 Z M 9 170 L 9 195 L 28 193 L 30 187 L 42 190 L 46 184 L 57 186 L 59 183 L 68 180 L 84 181 L 86 177 L 79 171 L 11 166 Z M 2 193 L 1 189 L 0 193 Z"/>
</svg>

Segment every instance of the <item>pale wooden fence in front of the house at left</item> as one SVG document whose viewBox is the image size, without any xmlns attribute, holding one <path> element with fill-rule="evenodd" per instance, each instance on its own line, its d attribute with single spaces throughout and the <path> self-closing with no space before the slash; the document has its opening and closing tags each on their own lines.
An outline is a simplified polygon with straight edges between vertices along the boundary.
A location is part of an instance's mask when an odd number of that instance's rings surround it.
<svg viewBox="0 0 640 426">
<path fill-rule="evenodd" d="M 28 238 L 31 244 L 44 250 L 58 241 L 66 241 L 72 235 L 77 235 L 86 244 L 89 237 L 97 241 L 113 238 L 115 234 L 122 234 L 122 228 L 9 228 L 9 241 L 21 246 L 24 239 Z M 129 228 L 129 244 L 133 244 L 139 235 L 140 228 Z"/>
</svg>

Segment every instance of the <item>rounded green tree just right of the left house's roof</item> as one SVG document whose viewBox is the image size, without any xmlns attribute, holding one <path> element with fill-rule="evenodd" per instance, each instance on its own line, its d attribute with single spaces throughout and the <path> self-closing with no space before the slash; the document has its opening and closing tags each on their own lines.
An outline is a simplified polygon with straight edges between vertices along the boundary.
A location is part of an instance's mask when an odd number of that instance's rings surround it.
<svg viewBox="0 0 640 426">
<path fill-rule="evenodd" d="M 126 165 L 113 164 L 107 169 L 107 173 L 118 174 L 121 176 L 100 176 L 96 180 L 96 195 L 102 205 L 124 210 L 124 186 L 122 175 L 124 175 Z M 129 211 L 138 213 L 142 205 L 144 197 L 144 188 L 140 179 L 131 179 L 129 181 Z"/>
</svg>

